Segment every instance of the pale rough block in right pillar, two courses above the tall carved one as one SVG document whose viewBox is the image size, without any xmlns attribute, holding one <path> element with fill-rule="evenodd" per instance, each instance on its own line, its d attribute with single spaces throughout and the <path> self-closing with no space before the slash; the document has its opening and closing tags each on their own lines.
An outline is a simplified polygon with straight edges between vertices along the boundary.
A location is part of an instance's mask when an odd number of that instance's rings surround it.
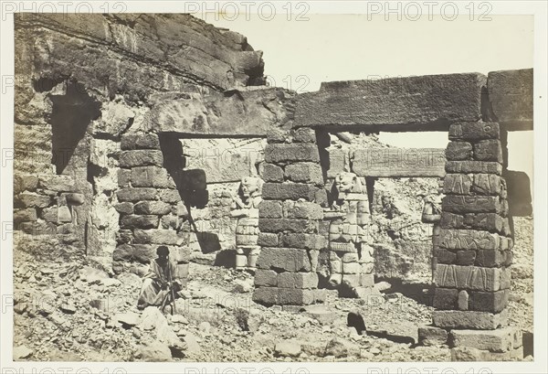
<svg viewBox="0 0 548 374">
<path fill-rule="evenodd" d="M 448 250 L 495 250 L 501 245 L 497 233 L 477 230 L 439 230 L 440 248 Z"/>
</svg>

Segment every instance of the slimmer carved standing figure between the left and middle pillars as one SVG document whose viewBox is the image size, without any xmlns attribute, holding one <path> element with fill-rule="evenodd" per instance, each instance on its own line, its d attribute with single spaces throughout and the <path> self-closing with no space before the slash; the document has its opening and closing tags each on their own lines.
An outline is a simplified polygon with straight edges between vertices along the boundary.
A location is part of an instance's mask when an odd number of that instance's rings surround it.
<svg viewBox="0 0 548 374">
<path fill-rule="evenodd" d="M 263 181 L 256 176 L 242 178 L 230 215 L 237 218 L 236 268 L 255 270 L 260 247 L 258 240 L 258 204 Z"/>
</svg>

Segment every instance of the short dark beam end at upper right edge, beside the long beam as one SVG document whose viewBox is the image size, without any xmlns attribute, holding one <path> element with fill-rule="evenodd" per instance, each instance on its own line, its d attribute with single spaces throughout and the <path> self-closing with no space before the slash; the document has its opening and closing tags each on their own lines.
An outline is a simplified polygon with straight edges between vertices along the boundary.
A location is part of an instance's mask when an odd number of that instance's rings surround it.
<svg viewBox="0 0 548 374">
<path fill-rule="evenodd" d="M 508 130 L 532 130 L 532 69 L 490 71 L 493 120 Z"/>
</svg>

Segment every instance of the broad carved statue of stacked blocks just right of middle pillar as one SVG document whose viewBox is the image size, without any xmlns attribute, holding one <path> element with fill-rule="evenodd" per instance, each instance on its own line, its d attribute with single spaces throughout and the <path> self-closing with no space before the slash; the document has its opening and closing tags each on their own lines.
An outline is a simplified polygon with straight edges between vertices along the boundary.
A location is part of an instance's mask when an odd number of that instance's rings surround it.
<svg viewBox="0 0 548 374">
<path fill-rule="evenodd" d="M 335 177 L 329 230 L 329 283 L 345 296 L 361 297 L 373 285 L 373 248 L 369 241 L 369 201 L 365 183 L 353 173 Z"/>
</svg>

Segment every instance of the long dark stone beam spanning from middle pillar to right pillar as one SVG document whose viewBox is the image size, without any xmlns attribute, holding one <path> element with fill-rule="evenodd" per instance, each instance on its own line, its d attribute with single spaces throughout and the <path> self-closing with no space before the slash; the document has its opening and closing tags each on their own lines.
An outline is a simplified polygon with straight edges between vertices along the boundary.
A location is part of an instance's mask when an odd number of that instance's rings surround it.
<svg viewBox="0 0 548 374">
<path fill-rule="evenodd" d="M 299 95 L 295 125 L 475 122 L 485 84 L 486 77 L 477 73 L 324 82 L 320 91 Z"/>
</svg>

